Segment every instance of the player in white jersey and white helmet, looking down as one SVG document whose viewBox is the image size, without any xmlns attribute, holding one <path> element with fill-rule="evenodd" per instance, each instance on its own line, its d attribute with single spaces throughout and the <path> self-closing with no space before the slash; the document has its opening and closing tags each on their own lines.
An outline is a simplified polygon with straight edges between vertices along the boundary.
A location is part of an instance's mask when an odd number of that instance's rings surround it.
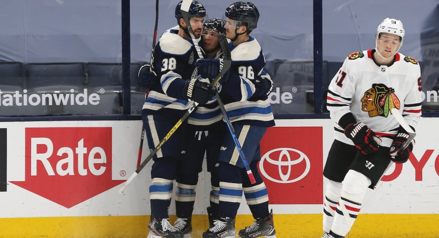
<svg viewBox="0 0 439 238">
<path fill-rule="evenodd" d="M 322 238 L 345 237 L 357 218 L 367 188 L 374 188 L 390 163 L 404 163 L 414 141 L 391 115 L 398 109 L 414 128 L 421 119 L 421 70 L 399 53 L 405 30 L 386 18 L 375 35 L 376 47 L 357 51 L 332 79 L 327 108 L 335 120 L 335 140 L 323 175 L 329 179 L 323 204 Z"/>
</svg>

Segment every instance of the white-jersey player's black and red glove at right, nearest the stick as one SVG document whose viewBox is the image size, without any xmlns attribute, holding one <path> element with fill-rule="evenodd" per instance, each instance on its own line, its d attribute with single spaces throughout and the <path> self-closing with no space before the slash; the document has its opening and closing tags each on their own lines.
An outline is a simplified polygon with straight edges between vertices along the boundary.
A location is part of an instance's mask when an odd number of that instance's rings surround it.
<svg viewBox="0 0 439 238">
<path fill-rule="evenodd" d="M 403 145 L 408 139 L 408 134 L 403 127 L 399 127 L 398 133 L 393 138 L 392 145 L 390 146 L 389 154 L 391 160 L 395 163 L 405 163 L 410 156 L 415 145 L 415 140 L 412 140 L 408 146 L 403 150 Z"/>
</svg>

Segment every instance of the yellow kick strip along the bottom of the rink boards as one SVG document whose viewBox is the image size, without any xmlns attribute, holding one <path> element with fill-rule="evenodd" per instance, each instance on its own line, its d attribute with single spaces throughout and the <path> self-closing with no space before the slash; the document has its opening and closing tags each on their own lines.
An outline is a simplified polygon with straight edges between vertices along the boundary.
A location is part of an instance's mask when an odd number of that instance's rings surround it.
<svg viewBox="0 0 439 238">
<path fill-rule="evenodd" d="M 175 221 L 175 216 L 170 218 Z M 145 238 L 149 216 L 0 219 L 1 238 Z M 238 215 L 236 229 L 252 223 Z M 277 238 L 321 237 L 321 214 L 274 215 Z M 360 214 L 347 238 L 439 237 L 437 214 Z M 191 238 L 201 238 L 207 217 L 194 215 Z M 185 238 L 188 238 L 186 235 Z"/>
</svg>

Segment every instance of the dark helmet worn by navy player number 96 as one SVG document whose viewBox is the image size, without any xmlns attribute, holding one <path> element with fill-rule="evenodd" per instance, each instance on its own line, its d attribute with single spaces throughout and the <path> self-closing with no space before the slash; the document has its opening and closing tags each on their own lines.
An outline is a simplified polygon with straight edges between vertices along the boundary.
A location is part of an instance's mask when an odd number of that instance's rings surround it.
<svg viewBox="0 0 439 238">
<path fill-rule="evenodd" d="M 226 8 L 225 16 L 232 20 L 240 21 L 241 24 L 247 22 L 247 28 L 253 30 L 257 26 L 259 11 L 251 2 L 238 1 Z"/>
</svg>

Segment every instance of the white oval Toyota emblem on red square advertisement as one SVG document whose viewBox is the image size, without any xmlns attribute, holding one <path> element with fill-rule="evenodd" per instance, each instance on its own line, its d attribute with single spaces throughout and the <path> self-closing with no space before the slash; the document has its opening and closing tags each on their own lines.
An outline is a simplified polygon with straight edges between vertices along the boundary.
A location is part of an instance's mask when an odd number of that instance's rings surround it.
<svg viewBox="0 0 439 238">
<path fill-rule="evenodd" d="M 279 152 L 279 158 L 272 158 L 271 156 L 275 153 L 275 152 Z M 291 155 L 293 156 L 293 160 L 291 159 Z M 297 155 L 299 155 L 298 158 Z M 287 160 L 282 160 L 283 158 L 286 158 Z M 305 161 L 306 162 L 306 168 L 304 170 L 304 172 L 297 178 L 294 179 L 290 179 L 290 175 L 291 175 L 291 170 L 292 170 L 292 166 L 299 164 L 300 162 Z M 264 163 L 270 163 L 272 165 L 277 165 L 278 169 L 279 169 L 279 177 L 281 180 L 275 179 L 273 177 L 271 177 L 265 170 L 264 170 Z M 282 171 L 282 167 L 283 166 L 287 166 L 288 171 L 286 174 L 283 173 Z M 308 174 L 309 170 L 311 168 L 311 163 L 309 162 L 309 158 L 306 156 L 305 153 L 296 150 L 296 149 L 292 149 L 292 148 L 277 148 L 277 149 L 273 149 L 267 153 L 264 154 L 264 156 L 262 156 L 261 158 L 261 162 L 259 163 L 259 170 L 261 170 L 261 173 L 268 178 L 270 181 L 273 181 L 275 183 L 280 183 L 280 184 L 289 184 L 289 183 L 294 183 L 297 182 L 301 179 L 303 179 L 306 174 Z"/>
</svg>

